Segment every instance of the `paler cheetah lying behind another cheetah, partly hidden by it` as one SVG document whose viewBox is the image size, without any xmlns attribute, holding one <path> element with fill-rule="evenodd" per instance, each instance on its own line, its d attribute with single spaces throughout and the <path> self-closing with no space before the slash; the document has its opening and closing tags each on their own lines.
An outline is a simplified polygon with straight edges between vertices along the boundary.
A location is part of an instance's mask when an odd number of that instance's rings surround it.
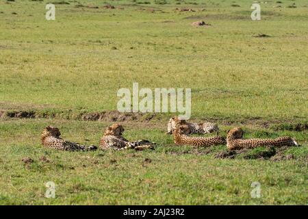
<svg viewBox="0 0 308 219">
<path fill-rule="evenodd" d="M 215 123 L 188 123 L 185 120 L 180 120 L 177 116 L 175 116 L 170 118 L 168 122 L 168 134 L 171 135 L 175 130 L 176 121 L 179 121 L 182 125 L 188 125 L 188 127 L 190 128 L 189 133 L 205 134 L 216 132 L 216 134 L 218 134 L 219 131 L 218 125 L 216 125 Z"/>
</svg>

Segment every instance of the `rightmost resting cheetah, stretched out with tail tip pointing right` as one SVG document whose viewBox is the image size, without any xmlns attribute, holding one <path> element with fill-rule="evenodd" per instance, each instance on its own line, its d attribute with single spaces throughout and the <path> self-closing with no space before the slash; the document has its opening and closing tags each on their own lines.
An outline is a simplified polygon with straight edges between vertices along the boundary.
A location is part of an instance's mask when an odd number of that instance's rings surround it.
<svg viewBox="0 0 308 219">
<path fill-rule="evenodd" d="M 298 143 L 290 137 L 280 137 L 274 139 L 242 139 L 244 131 L 233 128 L 227 134 L 227 147 L 229 150 L 251 149 L 257 146 L 298 146 Z"/>
</svg>

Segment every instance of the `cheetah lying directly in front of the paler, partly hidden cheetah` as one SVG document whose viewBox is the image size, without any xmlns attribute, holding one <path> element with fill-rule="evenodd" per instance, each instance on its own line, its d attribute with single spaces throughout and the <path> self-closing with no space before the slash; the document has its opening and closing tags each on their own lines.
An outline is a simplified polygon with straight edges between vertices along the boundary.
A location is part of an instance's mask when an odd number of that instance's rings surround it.
<svg viewBox="0 0 308 219">
<path fill-rule="evenodd" d="M 181 122 L 176 123 L 175 130 L 173 131 L 173 140 L 178 145 L 192 145 L 192 146 L 214 146 L 219 144 L 226 144 L 226 140 L 221 136 L 214 137 L 190 137 L 189 125 L 183 125 Z"/>
</svg>

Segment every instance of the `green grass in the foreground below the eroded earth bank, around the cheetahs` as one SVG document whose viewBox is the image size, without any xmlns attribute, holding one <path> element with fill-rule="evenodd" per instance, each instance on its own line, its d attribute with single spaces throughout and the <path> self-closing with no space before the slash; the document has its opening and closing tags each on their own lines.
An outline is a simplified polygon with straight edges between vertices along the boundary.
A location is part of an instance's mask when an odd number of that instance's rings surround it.
<svg viewBox="0 0 308 219">
<path fill-rule="evenodd" d="M 218 153 L 227 151 L 226 146 L 174 146 L 165 129 L 142 123 L 125 124 L 125 137 L 155 141 L 155 151 L 54 151 L 40 145 L 40 131 L 47 124 L 60 127 L 63 138 L 84 144 L 98 144 L 103 128 L 110 125 L 77 120 L 3 120 L 1 204 L 307 204 L 307 131 L 266 134 L 268 138 L 288 135 L 305 142 L 284 152 L 293 154 L 294 159 L 274 162 L 241 154 L 235 159 L 216 159 Z M 246 138 L 259 137 L 255 130 L 246 129 L 246 133 Z M 254 149 L 246 155 L 266 150 Z M 34 162 L 24 164 L 25 157 Z M 55 198 L 44 197 L 47 181 L 56 185 Z M 251 198 L 253 181 L 261 183 L 261 198 Z"/>
</svg>

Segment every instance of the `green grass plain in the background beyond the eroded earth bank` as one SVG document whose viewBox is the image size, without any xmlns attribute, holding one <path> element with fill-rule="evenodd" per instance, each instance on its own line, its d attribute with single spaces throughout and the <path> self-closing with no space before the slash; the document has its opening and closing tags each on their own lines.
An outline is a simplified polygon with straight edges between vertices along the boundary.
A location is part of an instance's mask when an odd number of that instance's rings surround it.
<svg viewBox="0 0 308 219">
<path fill-rule="evenodd" d="M 117 1 L 123 10 L 75 8 L 71 2 L 56 5 L 56 20 L 46 21 L 47 1 L 1 1 L 1 101 L 116 110 L 117 90 L 136 81 L 140 88 L 192 88 L 196 117 L 307 118 L 305 1 L 294 1 L 292 9 L 261 4 L 259 22 L 251 21 L 246 1 L 237 2 L 240 8 L 196 2 L 180 6 L 205 11 L 132 1 Z M 201 19 L 212 27 L 190 25 Z M 253 37 L 260 33 L 272 37 Z"/>
</svg>

